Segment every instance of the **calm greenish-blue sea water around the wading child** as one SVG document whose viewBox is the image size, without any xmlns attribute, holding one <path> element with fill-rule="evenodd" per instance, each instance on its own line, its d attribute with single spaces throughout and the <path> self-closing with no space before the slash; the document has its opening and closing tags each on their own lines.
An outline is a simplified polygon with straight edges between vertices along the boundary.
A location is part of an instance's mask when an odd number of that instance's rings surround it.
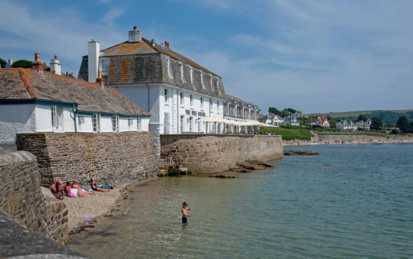
<svg viewBox="0 0 413 259">
<path fill-rule="evenodd" d="M 321 155 L 228 173 L 235 179 L 131 188 L 125 216 L 72 236 L 70 247 L 94 258 L 413 258 L 413 145 L 293 149 Z"/>
</svg>

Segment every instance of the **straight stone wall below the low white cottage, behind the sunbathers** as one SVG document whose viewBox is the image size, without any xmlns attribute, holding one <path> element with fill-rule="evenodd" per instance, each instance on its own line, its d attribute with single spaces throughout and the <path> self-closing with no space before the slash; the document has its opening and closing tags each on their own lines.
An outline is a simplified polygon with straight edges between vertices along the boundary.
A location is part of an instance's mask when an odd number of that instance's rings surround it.
<svg viewBox="0 0 413 259">
<path fill-rule="evenodd" d="M 18 134 L 17 148 L 37 157 L 42 185 L 86 183 L 92 176 L 119 185 L 158 173 L 158 155 L 147 132 Z"/>
</svg>

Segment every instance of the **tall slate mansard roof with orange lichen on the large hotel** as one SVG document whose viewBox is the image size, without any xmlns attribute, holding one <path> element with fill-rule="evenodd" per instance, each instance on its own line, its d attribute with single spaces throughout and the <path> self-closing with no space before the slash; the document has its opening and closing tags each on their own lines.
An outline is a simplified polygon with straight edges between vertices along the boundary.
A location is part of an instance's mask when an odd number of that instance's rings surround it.
<svg viewBox="0 0 413 259">
<path fill-rule="evenodd" d="M 139 43 L 125 41 L 100 50 L 100 53 L 101 58 L 109 59 L 109 72 L 103 76 L 107 85 L 167 83 L 225 99 L 224 85 L 220 76 L 173 50 L 162 48 L 158 44 L 152 46 L 151 42 L 145 38 L 142 38 Z M 170 73 L 167 68 L 168 58 Z M 180 64 L 182 64 L 184 71 L 183 78 L 181 78 Z M 192 80 L 190 67 L 193 68 Z M 88 56 L 83 56 L 78 79 L 88 81 L 87 70 Z M 200 71 L 202 71 L 202 80 Z M 210 75 L 212 76 L 212 85 Z M 216 79 L 218 79 L 218 84 Z"/>
</svg>

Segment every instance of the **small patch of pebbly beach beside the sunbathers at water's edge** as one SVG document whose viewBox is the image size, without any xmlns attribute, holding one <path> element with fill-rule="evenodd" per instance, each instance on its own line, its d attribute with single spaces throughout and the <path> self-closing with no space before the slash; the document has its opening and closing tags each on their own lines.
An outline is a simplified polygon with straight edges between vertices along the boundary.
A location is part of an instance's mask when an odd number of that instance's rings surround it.
<svg viewBox="0 0 413 259">
<path fill-rule="evenodd" d="M 109 192 L 95 191 L 93 196 L 65 197 L 63 203 L 65 203 L 69 211 L 67 214 L 69 236 L 94 227 L 102 218 L 114 216 L 116 212 L 121 211 L 125 200 L 127 200 L 127 189 L 155 179 L 148 178 L 134 183 L 125 183 L 114 187 Z M 92 215 L 91 222 L 86 222 L 86 215 Z"/>
</svg>

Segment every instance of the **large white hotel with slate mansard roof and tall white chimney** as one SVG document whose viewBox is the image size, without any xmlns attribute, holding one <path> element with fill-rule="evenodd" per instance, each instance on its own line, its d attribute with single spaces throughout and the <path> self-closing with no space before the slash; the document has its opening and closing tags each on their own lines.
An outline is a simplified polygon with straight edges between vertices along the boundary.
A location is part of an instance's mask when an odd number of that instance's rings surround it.
<svg viewBox="0 0 413 259">
<path fill-rule="evenodd" d="M 151 113 L 149 131 L 156 145 L 159 134 L 221 131 L 199 120 L 223 120 L 222 78 L 171 50 L 167 41 L 158 45 L 134 27 L 128 41 L 105 50 L 97 41 L 87 44 L 78 79 L 94 81 L 101 68 L 105 85 Z"/>
</svg>

